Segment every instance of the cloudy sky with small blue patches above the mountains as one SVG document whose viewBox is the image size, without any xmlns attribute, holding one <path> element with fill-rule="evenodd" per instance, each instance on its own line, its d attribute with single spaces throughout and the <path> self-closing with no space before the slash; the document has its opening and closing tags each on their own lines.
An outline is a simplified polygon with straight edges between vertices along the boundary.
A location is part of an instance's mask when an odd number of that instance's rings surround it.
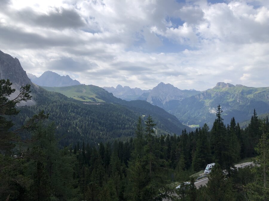
<svg viewBox="0 0 269 201">
<path fill-rule="evenodd" d="M 0 50 L 100 87 L 269 86 L 268 0 L 0 0 Z"/>
</svg>

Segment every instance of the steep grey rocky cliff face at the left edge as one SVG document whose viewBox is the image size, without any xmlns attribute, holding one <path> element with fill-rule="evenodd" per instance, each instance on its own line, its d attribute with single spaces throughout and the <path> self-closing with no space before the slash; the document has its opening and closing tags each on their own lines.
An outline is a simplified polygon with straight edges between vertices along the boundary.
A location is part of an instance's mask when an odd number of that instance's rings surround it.
<svg viewBox="0 0 269 201">
<path fill-rule="evenodd" d="M 11 94 L 10 99 L 15 98 L 20 91 L 21 86 L 26 84 L 31 85 L 31 91 L 36 91 L 37 86 L 35 86 L 31 80 L 27 77 L 26 72 L 23 70 L 19 60 L 13 58 L 9 54 L 5 54 L 0 51 L 0 79 L 9 79 L 13 84 L 12 88 L 15 88 L 15 93 Z M 35 101 L 29 100 L 27 102 L 21 102 L 19 106 L 23 105 L 34 105 Z"/>
</svg>

